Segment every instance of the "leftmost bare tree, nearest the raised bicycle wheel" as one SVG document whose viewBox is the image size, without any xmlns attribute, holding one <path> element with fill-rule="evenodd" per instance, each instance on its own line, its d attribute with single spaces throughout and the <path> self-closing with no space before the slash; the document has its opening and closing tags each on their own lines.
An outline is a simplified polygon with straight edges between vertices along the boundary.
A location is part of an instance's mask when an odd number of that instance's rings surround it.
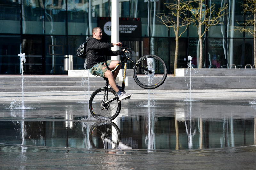
<svg viewBox="0 0 256 170">
<path fill-rule="evenodd" d="M 187 0 L 174 0 L 174 3 L 164 3 L 166 8 L 169 9 L 168 14 L 160 13 L 157 17 L 168 28 L 172 28 L 175 33 L 175 55 L 174 55 L 174 76 L 177 68 L 179 38 L 186 32 L 188 25 L 191 24 L 191 18 L 188 18 L 186 9 L 190 1 Z M 179 32 L 181 27 L 185 27 L 183 32 Z"/>
</svg>

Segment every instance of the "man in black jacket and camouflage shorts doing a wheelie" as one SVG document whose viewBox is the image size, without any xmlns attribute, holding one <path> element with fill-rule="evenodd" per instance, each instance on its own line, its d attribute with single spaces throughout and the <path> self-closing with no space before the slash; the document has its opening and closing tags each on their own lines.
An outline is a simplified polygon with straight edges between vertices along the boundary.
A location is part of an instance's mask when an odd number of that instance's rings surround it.
<svg viewBox="0 0 256 170">
<path fill-rule="evenodd" d="M 121 68 L 119 65 L 118 69 L 113 74 L 111 70 L 113 70 L 119 61 L 117 60 L 107 60 L 105 56 L 116 56 L 124 53 L 124 50 L 111 51 L 110 47 L 113 46 L 122 46 L 121 42 L 116 43 L 105 43 L 101 42 L 102 39 L 102 30 L 100 27 L 93 28 L 92 37 L 87 38 L 87 46 L 86 46 L 86 54 L 87 54 L 87 67 L 90 70 L 92 75 L 98 75 L 101 77 L 108 78 L 109 85 L 116 91 L 118 94 L 119 100 L 123 100 L 132 95 L 126 94 L 121 91 L 122 87 L 116 84 L 116 77 Z"/>
</svg>

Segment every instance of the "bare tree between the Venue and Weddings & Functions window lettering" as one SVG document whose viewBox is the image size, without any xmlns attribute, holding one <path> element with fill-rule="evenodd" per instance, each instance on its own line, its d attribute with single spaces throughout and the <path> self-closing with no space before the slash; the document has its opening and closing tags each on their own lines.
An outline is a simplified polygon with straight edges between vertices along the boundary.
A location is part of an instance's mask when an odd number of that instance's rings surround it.
<svg viewBox="0 0 256 170">
<path fill-rule="evenodd" d="M 204 4 L 205 0 L 192 0 L 187 8 L 188 11 L 192 14 L 192 22 L 197 27 L 197 33 L 199 36 L 199 67 L 202 68 L 203 66 L 203 43 L 202 37 L 209 29 L 210 26 L 214 26 L 217 24 L 221 24 L 221 18 L 226 14 L 225 10 L 227 9 L 228 5 L 225 4 L 218 11 L 215 10 L 215 4 L 210 3 L 209 6 Z M 210 1 L 211 2 L 211 1 Z M 203 10 L 204 6 L 204 10 Z M 215 12 L 215 13 L 213 13 Z M 202 29 L 204 26 L 204 30 Z"/>
</svg>

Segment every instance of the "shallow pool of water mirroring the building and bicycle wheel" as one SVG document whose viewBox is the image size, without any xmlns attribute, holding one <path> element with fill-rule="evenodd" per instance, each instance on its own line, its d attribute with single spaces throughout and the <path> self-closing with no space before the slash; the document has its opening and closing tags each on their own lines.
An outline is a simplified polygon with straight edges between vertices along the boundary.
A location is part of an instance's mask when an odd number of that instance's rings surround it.
<svg viewBox="0 0 256 170">
<path fill-rule="evenodd" d="M 48 109 L 45 113 L 1 110 L 0 143 L 146 151 L 255 145 L 256 109 L 245 103 L 161 101 L 160 107 L 130 108 L 135 106 L 130 102 L 124 103 L 115 122 L 81 120 L 87 106 L 75 102 L 42 105 L 42 110 Z"/>
</svg>

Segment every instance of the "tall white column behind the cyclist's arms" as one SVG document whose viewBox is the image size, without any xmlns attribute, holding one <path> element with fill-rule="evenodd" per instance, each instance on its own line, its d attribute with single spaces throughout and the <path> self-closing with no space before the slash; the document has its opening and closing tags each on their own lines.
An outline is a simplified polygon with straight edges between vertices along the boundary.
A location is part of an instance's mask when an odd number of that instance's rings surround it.
<svg viewBox="0 0 256 170">
<path fill-rule="evenodd" d="M 111 42 L 119 42 L 119 1 L 112 0 L 111 12 Z M 119 50 L 118 46 L 111 48 L 112 51 Z M 118 56 L 111 57 L 111 60 L 119 60 Z"/>
</svg>

